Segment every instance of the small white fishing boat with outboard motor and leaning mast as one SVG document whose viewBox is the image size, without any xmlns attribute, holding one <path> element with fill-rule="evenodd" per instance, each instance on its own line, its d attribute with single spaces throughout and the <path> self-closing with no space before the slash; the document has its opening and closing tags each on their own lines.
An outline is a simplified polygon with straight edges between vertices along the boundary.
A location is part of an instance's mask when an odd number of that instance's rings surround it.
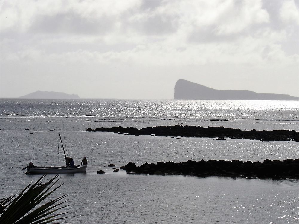
<svg viewBox="0 0 299 224">
<path fill-rule="evenodd" d="M 63 148 L 65 158 L 65 150 L 59 134 L 60 142 Z M 84 173 L 86 172 L 87 164 L 81 166 L 75 166 L 74 168 L 70 166 L 34 166 L 32 162 L 29 162 L 29 165 L 22 170 L 27 168 L 26 174 L 68 174 L 68 173 Z"/>
</svg>

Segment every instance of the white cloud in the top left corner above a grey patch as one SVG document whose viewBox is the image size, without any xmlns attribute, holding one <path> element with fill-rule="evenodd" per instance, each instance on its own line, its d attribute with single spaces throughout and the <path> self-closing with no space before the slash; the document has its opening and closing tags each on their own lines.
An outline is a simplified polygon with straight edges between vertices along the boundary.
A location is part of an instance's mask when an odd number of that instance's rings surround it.
<svg viewBox="0 0 299 224">
<path fill-rule="evenodd" d="M 102 18 L 115 18 L 128 10 L 138 7 L 139 0 L 126 1 L 2 1 L 0 3 L 1 17 L 0 30 L 13 29 L 19 32 L 27 32 L 30 27 L 44 18 L 63 19 L 71 21 L 73 16 L 93 23 Z M 64 22 L 64 21 L 60 21 Z"/>
</svg>

